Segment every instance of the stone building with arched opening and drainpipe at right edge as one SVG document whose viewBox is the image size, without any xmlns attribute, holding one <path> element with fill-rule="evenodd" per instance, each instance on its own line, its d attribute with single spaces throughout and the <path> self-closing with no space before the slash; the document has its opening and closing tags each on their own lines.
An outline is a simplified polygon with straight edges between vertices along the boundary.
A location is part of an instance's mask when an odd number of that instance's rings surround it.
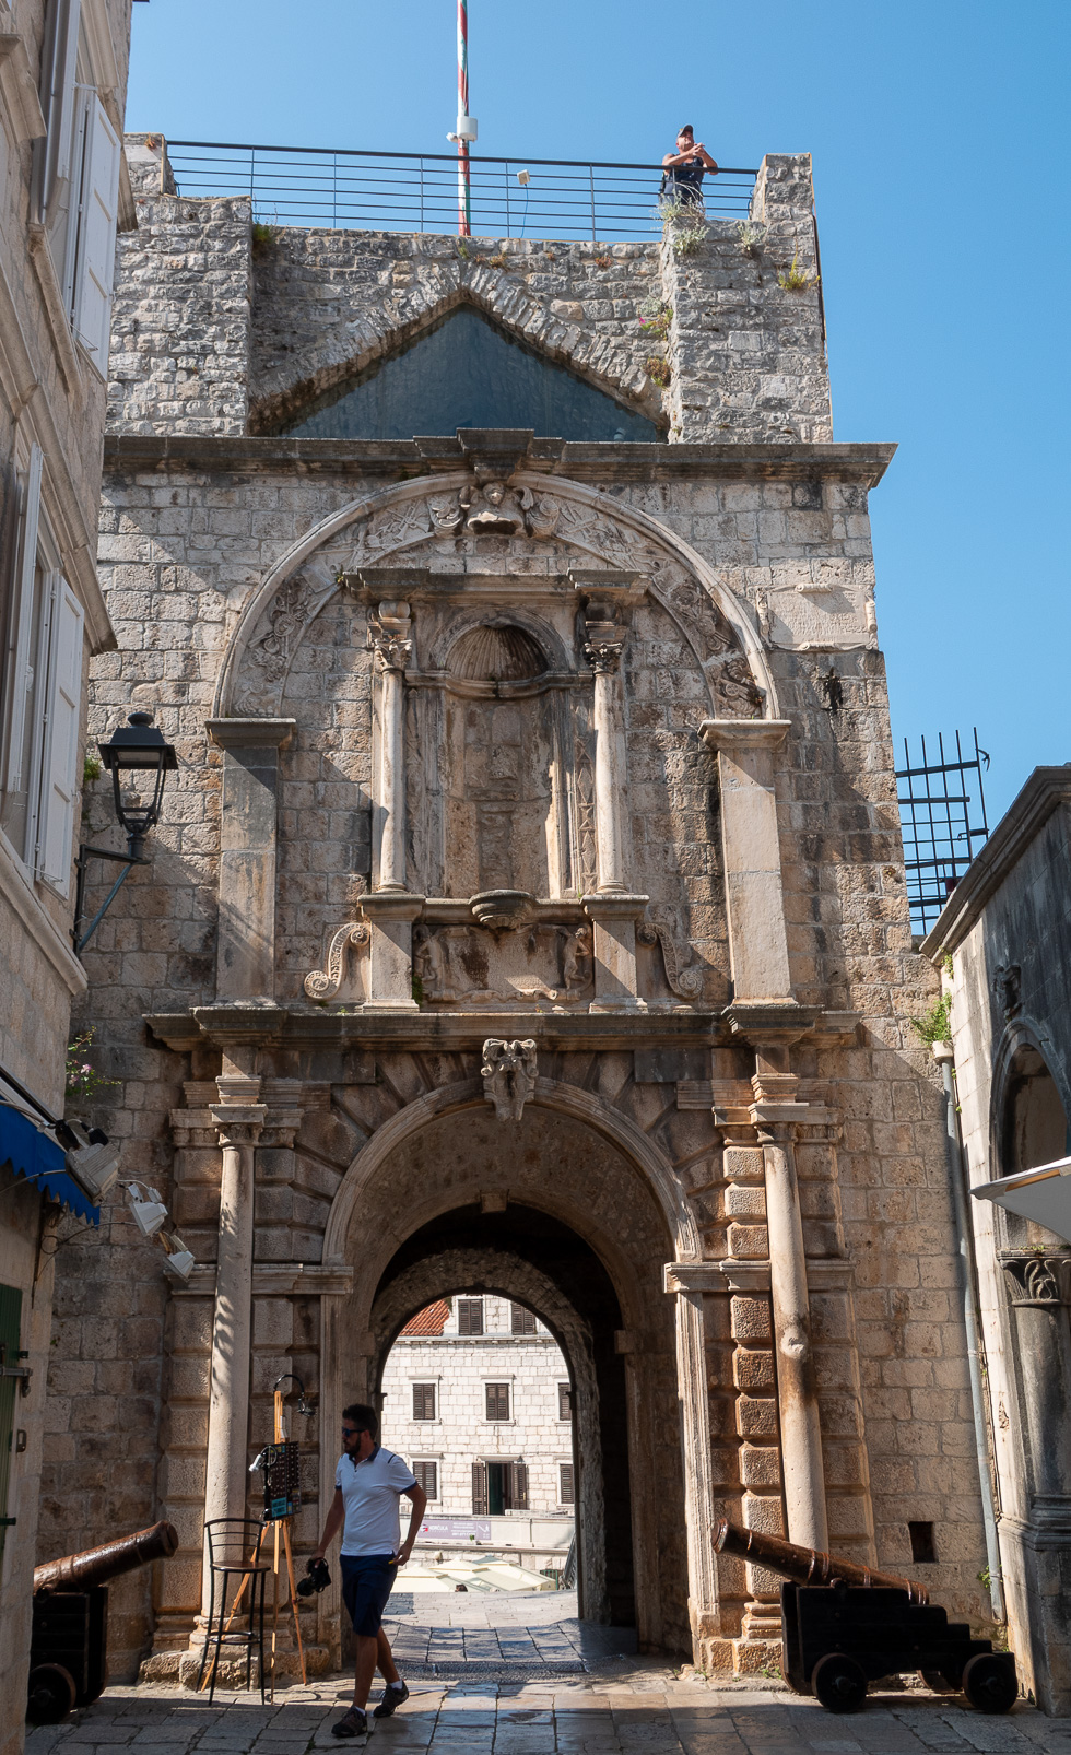
<svg viewBox="0 0 1071 1755">
<path fill-rule="evenodd" d="M 948 967 L 966 1188 L 1071 1157 L 1069 867 L 1069 770 L 1034 769 L 924 942 Z M 1071 1246 L 966 1206 L 1008 1634 L 1038 1702 L 1067 1715 Z"/>
</svg>

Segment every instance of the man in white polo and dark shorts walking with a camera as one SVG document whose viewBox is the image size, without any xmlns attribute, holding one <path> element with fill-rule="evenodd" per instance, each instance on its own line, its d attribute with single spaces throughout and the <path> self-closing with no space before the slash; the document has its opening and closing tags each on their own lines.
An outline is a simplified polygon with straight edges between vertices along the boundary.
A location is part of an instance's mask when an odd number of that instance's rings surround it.
<svg viewBox="0 0 1071 1755">
<path fill-rule="evenodd" d="M 397 1578 L 397 1567 L 413 1553 L 413 1543 L 428 1499 L 416 1476 L 400 1457 L 377 1443 L 379 1420 L 376 1409 L 351 1402 L 342 1409 L 342 1455 L 335 1469 L 335 1497 L 323 1525 L 320 1548 L 309 1560 L 309 1571 L 323 1560 L 327 1548 L 342 1530 L 339 1565 L 342 1569 L 342 1601 L 353 1622 L 356 1641 L 356 1674 L 353 1680 L 353 1706 L 332 1725 L 337 1737 L 360 1737 L 369 1729 L 365 1706 L 376 1664 L 386 1683 L 374 1718 L 390 1715 L 409 1699 L 409 1688 L 400 1680 L 383 1632 L 383 1609 Z M 409 1534 L 400 1541 L 399 1499 L 413 1501 Z"/>
</svg>

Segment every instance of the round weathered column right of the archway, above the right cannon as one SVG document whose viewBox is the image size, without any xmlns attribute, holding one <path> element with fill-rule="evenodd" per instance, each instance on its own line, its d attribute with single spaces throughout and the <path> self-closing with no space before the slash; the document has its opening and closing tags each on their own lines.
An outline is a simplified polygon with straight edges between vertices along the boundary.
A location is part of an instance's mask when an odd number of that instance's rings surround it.
<svg viewBox="0 0 1071 1755">
<path fill-rule="evenodd" d="M 806 1104 L 753 1104 L 766 1169 L 769 1228 L 769 1290 L 774 1316 L 781 1478 L 788 1541 L 829 1546 L 825 1469 L 818 1383 L 811 1344 L 811 1307 L 804 1258 L 799 1185 L 795 1179 L 795 1116 Z"/>
</svg>

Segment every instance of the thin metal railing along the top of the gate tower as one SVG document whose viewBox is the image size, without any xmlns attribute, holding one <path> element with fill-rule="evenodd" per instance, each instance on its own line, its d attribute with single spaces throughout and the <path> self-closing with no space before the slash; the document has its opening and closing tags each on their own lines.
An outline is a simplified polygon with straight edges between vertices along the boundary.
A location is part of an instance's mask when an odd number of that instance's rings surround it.
<svg viewBox="0 0 1071 1755">
<path fill-rule="evenodd" d="M 456 232 L 455 153 L 169 140 L 179 195 L 249 195 L 269 225 Z M 644 242 L 662 232 L 660 165 L 471 158 L 476 237 Z M 521 183 L 527 176 L 527 183 Z M 744 219 L 755 170 L 704 181 L 708 219 Z"/>
</svg>

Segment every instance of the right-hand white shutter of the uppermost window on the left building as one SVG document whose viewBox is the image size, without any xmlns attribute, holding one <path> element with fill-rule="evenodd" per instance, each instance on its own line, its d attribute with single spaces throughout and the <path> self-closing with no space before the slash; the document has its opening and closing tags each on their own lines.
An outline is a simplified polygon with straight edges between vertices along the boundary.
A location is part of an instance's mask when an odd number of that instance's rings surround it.
<svg viewBox="0 0 1071 1755">
<path fill-rule="evenodd" d="M 84 90 L 86 147 L 77 207 L 74 333 L 102 377 L 112 328 L 116 214 L 119 205 L 119 135 L 95 91 Z"/>
</svg>

